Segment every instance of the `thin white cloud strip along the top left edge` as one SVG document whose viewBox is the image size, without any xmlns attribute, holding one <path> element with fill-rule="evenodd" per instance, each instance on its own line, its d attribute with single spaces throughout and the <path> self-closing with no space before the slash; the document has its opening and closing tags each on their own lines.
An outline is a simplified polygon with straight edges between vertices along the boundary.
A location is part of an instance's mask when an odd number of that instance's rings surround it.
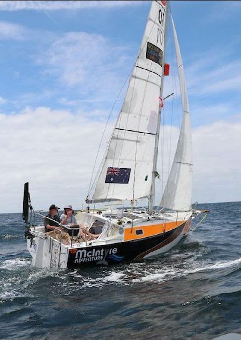
<svg viewBox="0 0 241 340">
<path fill-rule="evenodd" d="M 146 1 L 0 1 L 0 10 L 78 10 L 84 8 L 110 8 L 136 6 Z"/>
</svg>

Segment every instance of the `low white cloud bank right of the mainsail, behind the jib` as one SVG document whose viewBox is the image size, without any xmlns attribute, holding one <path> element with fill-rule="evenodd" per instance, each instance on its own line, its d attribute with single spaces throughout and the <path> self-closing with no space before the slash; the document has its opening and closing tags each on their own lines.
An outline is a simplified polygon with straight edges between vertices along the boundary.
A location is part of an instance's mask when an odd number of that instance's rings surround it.
<svg viewBox="0 0 241 340">
<path fill-rule="evenodd" d="M 193 141 L 193 196 L 192 201 L 227 202 L 240 201 L 241 187 L 241 114 L 236 115 L 235 121 L 217 121 L 212 124 L 192 129 Z M 172 130 L 172 143 L 170 131 Z M 161 135 L 163 131 L 161 130 Z M 164 178 L 164 188 L 177 145 L 179 129 L 172 126 L 164 128 L 164 153 L 159 153 L 158 171 Z M 160 140 L 160 146 L 162 143 Z M 170 151 L 170 164 L 169 163 Z M 162 159 L 164 172 L 162 174 Z M 162 183 L 157 181 L 156 203 L 160 203 Z"/>
</svg>

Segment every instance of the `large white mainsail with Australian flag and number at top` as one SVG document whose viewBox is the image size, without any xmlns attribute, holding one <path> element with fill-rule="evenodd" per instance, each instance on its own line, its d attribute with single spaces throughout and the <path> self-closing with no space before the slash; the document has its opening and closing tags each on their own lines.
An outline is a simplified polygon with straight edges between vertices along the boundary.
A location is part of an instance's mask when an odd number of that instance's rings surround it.
<svg viewBox="0 0 241 340">
<path fill-rule="evenodd" d="M 164 68 L 167 1 L 153 1 L 91 202 L 149 197 Z"/>
</svg>

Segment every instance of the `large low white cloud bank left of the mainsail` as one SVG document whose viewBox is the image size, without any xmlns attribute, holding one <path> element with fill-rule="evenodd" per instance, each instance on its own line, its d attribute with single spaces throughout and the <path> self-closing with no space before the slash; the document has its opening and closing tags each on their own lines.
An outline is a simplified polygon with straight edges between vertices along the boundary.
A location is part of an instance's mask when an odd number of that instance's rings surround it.
<svg viewBox="0 0 241 340">
<path fill-rule="evenodd" d="M 35 209 L 52 202 L 81 207 L 105 122 L 39 107 L 16 115 L 0 114 L 0 124 L 1 210 L 21 210 L 26 181 Z"/>
</svg>

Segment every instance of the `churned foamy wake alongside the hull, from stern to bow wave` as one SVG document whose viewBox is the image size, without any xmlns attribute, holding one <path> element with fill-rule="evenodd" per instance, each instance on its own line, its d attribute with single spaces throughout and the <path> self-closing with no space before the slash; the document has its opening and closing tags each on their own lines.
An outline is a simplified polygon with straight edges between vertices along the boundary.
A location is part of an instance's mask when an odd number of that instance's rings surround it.
<svg viewBox="0 0 241 340">
<path fill-rule="evenodd" d="M 194 247 L 193 242 L 189 244 Z M 60 289 L 61 294 L 69 295 L 90 288 L 159 284 L 187 276 L 191 280 L 217 279 L 241 268 L 241 258 L 215 263 L 210 259 L 198 259 L 206 248 L 202 244 L 196 244 L 196 248 L 197 256 L 188 247 L 181 253 L 180 245 L 152 260 L 79 270 L 36 269 L 30 267 L 30 259 L 7 259 L 0 261 L 0 302 L 16 297 L 45 296 L 48 289 Z"/>
</svg>

